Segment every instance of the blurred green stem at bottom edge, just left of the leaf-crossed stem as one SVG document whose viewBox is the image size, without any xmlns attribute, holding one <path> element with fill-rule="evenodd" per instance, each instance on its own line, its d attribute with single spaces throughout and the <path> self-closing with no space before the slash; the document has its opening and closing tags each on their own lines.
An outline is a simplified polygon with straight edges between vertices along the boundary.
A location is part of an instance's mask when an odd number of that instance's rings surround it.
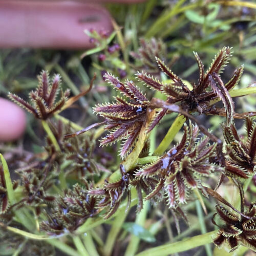
<svg viewBox="0 0 256 256">
<path fill-rule="evenodd" d="M 127 212 L 125 212 L 125 208 L 119 211 L 116 216 L 114 222 L 112 223 L 111 230 L 108 234 L 108 238 L 106 238 L 106 243 L 104 246 L 104 255 L 110 256 L 117 238 L 117 235 L 122 228 L 122 224 L 126 218 Z"/>
</svg>

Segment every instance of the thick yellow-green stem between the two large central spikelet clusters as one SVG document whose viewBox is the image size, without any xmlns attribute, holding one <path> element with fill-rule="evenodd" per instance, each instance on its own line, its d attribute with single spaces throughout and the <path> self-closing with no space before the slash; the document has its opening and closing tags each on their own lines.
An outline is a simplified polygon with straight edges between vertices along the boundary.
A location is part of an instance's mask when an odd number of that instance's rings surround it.
<svg viewBox="0 0 256 256">
<path fill-rule="evenodd" d="M 154 155 L 161 156 L 164 153 L 164 151 L 168 148 L 170 143 L 172 143 L 175 135 L 180 131 L 185 121 L 186 118 L 183 115 L 178 115 L 176 117 L 175 121 L 170 126 L 167 134 L 164 136 L 163 140 L 155 150 Z"/>
</svg>

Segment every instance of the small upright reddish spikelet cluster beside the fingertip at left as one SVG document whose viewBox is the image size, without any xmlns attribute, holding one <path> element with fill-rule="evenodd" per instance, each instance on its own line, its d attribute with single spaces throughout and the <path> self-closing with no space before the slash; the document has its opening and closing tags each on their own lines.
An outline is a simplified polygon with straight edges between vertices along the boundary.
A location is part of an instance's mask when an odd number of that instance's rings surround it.
<svg viewBox="0 0 256 256">
<path fill-rule="evenodd" d="M 38 77 L 38 86 L 35 91 L 29 93 L 31 103 L 18 97 L 15 94 L 9 93 L 9 98 L 22 106 L 25 110 L 32 113 L 38 119 L 47 119 L 55 112 L 61 110 L 62 106 L 68 99 L 70 91 L 63 92 L 59 89 L 60 76 L 57 74 L 50 82 L 47 71 L 42 71 Z M 56 101 L 60 91 L 60 98 Z"/>
</svg>

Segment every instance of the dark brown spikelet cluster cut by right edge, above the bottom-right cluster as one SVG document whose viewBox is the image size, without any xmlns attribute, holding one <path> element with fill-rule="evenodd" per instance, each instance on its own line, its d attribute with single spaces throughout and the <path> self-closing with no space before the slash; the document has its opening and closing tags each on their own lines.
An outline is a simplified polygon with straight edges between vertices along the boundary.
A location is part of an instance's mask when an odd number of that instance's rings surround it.
<svg viewBox="0 0 256 256">
<path fill-rule="evenodd" d="M 223 126 L 226 141 L 226 173 L 247 179 L 256 170 L 256 122 L 246 117 L 247 136 L 242 139 L 233 124 Z"/>
</svg>

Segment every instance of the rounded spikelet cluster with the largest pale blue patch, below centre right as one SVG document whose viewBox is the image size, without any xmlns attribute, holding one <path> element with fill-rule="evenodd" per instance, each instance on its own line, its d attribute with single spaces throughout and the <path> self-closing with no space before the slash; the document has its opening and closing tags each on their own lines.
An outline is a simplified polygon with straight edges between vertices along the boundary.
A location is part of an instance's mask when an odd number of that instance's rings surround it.
<svg viewBox="0 0 256 256">
<path fill-rule="evenodd" d="M 146 200 L 161 193 L 170 208 L 185 203 L 191 190 L 199 189 L 206 195 L 201 184 L 202 177 L 208 177 L 220 167 L 209 162 L 215 155 L 216 144 L 209 139 L 198 140 L 198 126 L 185 125 L 181 142 L 160 157 L 156 162 L 141 168 L 138 178 L 156 178 L 158 184 L 146 196 Z"/>
</svg>

